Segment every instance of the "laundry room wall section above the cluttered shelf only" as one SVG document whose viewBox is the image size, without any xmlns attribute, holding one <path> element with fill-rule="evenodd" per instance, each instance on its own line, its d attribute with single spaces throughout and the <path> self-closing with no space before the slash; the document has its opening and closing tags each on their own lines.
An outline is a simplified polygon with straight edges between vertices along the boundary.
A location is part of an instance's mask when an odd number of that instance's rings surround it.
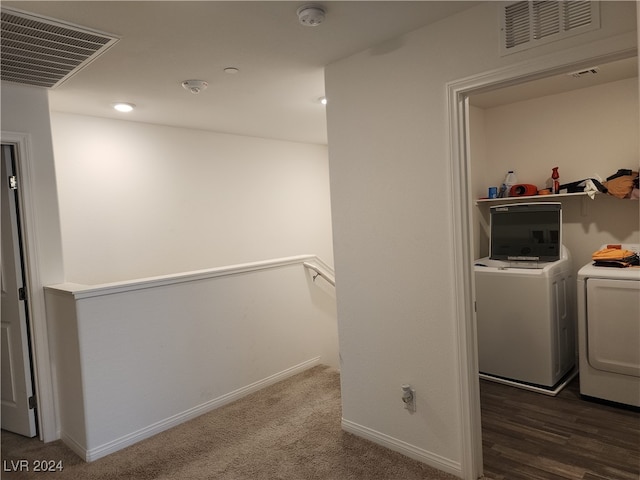
<svg viewBox="0 0 640 480">
<path fill-rule="evenodd" d="M 484 130 L 486 162 L 473 162 L 472 169 L 484 169 L 492 185 L 507 170 L 538 188 L 556 166 L 560 183 L 637 170 L 638 79 L 488 108 Z M 476 185 L 476 194 L 486 195 L 486 188 Z"/>
</svg>

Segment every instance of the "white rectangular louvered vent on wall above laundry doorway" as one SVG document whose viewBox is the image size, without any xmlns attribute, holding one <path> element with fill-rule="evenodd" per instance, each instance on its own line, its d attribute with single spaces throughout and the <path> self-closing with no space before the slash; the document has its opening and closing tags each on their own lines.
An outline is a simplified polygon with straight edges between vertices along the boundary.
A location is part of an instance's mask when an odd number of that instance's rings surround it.
<svg viewBox="0 0 640 480">
<path fill-rule="evenodd" d="M 600 28 L 598 2 L 586 0 L 506 2 L 500 12 L 503 55 Z"/>
</svg>

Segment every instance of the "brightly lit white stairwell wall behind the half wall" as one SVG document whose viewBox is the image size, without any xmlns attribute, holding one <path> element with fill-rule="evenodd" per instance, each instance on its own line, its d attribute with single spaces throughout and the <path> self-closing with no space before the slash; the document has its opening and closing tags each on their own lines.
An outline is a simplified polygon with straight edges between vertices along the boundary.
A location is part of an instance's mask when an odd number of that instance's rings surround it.
<svg viewBox="0 0 640 480">
<path fill-rule="evenodd" d="M 52 114 L 66 280 L 333 264 L 326 146 Z"/>
</svg>

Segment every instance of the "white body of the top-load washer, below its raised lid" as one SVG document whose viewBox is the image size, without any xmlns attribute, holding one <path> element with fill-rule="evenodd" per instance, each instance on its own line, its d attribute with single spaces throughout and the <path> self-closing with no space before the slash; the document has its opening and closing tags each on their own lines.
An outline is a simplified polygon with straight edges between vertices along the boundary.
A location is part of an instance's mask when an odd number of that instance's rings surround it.
<svg viewBox="0 0 640 480">
<path fill-rule="evenodd" d="M 541 268 L 514 268 L 489 257 L 475 262 L 482 378 L 555 395 L 575 376 L 571 266 L 564 246 L 560 260 Z"/>
</svg>

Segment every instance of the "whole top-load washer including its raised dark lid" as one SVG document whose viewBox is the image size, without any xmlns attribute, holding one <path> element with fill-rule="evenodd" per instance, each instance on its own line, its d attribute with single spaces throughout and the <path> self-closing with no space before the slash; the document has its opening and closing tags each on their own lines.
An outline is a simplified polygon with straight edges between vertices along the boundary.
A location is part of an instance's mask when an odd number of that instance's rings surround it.
<svg viewBox="0 0 640 480">
<path fill-rule="evenodd" d="M 576 375 L 576 282 L 562 205 L 491 207 L 489 252 L 474 266 L 480 376 L 555 395 Z"/>
</svg>

